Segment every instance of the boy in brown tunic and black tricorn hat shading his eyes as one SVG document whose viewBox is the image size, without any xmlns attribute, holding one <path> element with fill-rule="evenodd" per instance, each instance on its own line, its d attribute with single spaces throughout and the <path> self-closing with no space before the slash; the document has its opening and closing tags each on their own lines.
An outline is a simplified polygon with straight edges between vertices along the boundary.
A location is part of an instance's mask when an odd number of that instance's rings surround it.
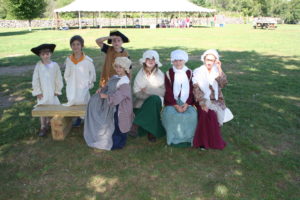
<svg viewBox="0 0 300 200">
<path fill-rule="evenodd" d="M 112 46 L 105 44 L 104 41 L 106 40 Z M 123 43 L 127 42 L 129 42 L 129 39 L 120 31 L 111 31 L 109 36 L 96 39 L 96 43 L 101 48 L 101 51 L 106 54 L 99 82 L 100 88 L 105 86 L 108 79 L 116 74 L 113 68 L 115 59 L 117 57 L 129 57 L 128 52 L 122 47 Z"/>
</svg>

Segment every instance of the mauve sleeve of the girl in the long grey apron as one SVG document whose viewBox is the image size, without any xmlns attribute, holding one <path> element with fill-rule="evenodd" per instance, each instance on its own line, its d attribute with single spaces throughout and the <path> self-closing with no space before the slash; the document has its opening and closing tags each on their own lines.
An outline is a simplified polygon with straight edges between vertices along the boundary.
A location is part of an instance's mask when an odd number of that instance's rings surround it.
<svg viewBox="0 0 300 200">
<path fill-rule="evenodd" d="M 110 105 L 118 105 L 126 98 L 130 98 L 131 88 L 129 84 L 122 84 L 115 93 L 108 95 L 108 103 Z"/>
</svg>

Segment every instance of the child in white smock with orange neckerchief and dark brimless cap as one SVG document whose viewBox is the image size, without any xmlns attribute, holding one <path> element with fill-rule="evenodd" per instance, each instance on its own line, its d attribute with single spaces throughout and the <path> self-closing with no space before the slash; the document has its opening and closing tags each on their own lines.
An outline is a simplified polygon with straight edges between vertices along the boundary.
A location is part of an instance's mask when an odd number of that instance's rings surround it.
<svg viewBox="0 0 300 200">
<path fill-rule="evenodd" d="M 75 35 L 70 39 L 72 54 L 66 59 L 66 94 L 68 102 L 65 106 L 84 105 L 90 99 L 89 90 L 94 87 L 96 72 L 93 60 L 84 54 L 84 40 Z M 81 118 L 78 117 L 73 126 L 80 126 Z"/>
</svg>

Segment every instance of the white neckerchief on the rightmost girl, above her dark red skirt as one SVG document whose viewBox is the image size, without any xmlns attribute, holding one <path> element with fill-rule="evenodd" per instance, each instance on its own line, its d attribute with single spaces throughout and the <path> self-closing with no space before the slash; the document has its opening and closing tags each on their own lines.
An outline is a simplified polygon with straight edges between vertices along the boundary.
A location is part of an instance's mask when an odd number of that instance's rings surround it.
<svg viewBox="0 0 300 200">
<path fill-rule="evenodd" d="M 219 76 L 219 70 L 216 65 L 213 65 L 210 73 L 205 65 L 202 65 L 194 71 L 193 74 L 193 83 L 198 83 L 200 89 L 204 93 L 205 99 L 210 99 L 211 90 L 209 86 L 211 85 L 215 92 L 215 99 L 219 98 L 219 86 L 216 81 L 216 78 Z"/>
</svg>

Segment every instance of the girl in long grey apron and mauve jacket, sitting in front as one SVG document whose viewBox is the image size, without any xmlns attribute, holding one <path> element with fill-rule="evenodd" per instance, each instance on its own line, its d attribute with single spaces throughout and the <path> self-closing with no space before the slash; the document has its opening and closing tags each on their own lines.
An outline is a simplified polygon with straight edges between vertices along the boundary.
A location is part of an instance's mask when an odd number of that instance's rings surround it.
<svg viewBox="0 0 300 200">
<path fill-rule="evenodd" d="M 117 57 L 113 67 L 116 75 L 91 97 L 84 124 L 87 145 L 103 150 L 122 149 L 133 120 L 131 61 Z"/>
</svg>

